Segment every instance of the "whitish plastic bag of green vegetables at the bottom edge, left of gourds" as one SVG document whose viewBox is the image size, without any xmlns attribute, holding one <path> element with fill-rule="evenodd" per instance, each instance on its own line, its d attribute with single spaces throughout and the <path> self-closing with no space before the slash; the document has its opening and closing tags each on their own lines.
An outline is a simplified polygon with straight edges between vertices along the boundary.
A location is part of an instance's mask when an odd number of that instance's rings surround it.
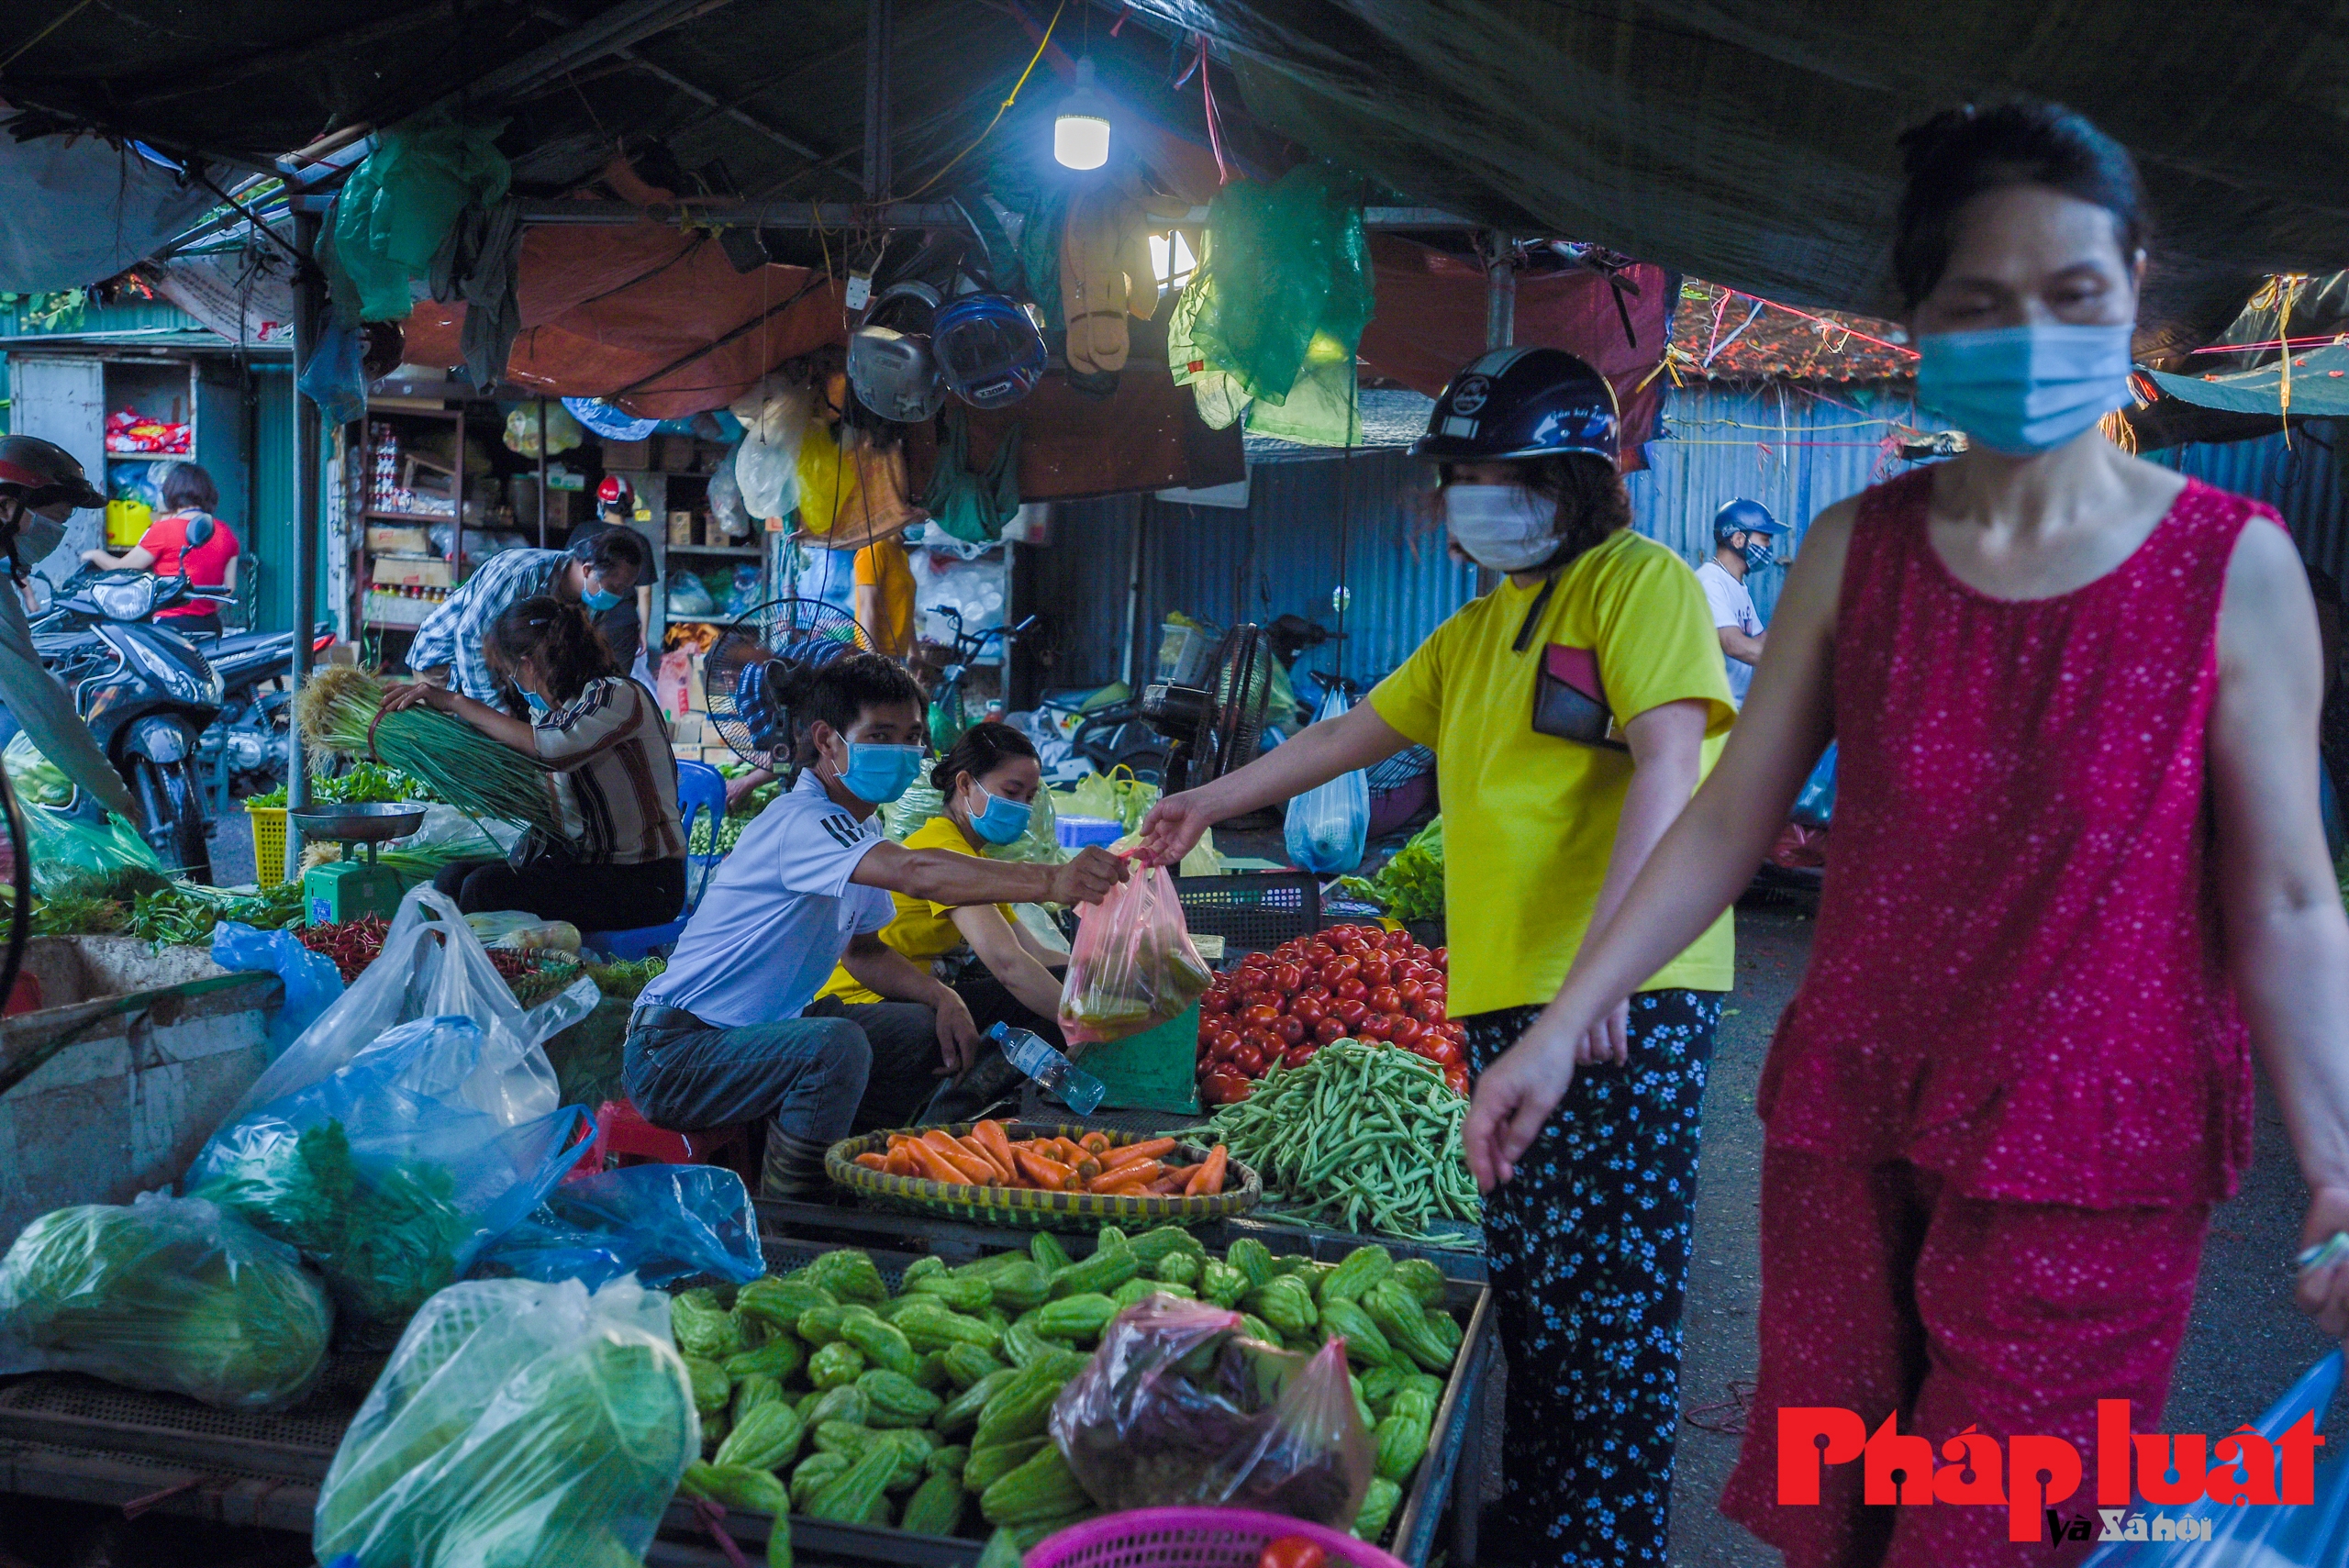
<svg viewBox="0 0 2349 1568">
<path fill-rule="evenodd" d="M 312 1547 L 359 1568 L 639 1563 L 700 1448 L 667 1296 L 470 1279 L 425 1303 L 343 1432 Z"/>
</svg>

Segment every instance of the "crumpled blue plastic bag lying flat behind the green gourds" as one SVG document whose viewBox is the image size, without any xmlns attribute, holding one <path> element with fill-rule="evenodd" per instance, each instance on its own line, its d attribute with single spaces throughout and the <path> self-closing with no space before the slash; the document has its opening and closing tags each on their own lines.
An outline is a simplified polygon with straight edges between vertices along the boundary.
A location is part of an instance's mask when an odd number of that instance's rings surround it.
<svg viewBox="0 0 2349 1568">
<path fill-rule="evenodd" d="M 578 1279 L 590 1291 L 620 1275 L 648 1286 L 691 1275 L 749 1284 L 766 1256 L 740 1176 L 721 1164 L 632 1164 L 557 1185 L 474 1272 Z"/>
</svg>

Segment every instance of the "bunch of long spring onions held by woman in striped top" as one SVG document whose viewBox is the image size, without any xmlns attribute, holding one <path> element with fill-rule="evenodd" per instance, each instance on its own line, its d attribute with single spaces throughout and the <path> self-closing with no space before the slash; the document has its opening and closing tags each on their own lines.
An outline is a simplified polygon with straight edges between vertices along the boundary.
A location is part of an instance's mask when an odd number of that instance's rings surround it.
<svg viewBox="0 0 2349 1568">
<path fill-rule="evenodd" d="M 383 714 L 383 681 L 364 669 L 317 671 L 301 688 L 294 714 L 312 746 L 413 775 L 460 812 L 564 836 L 547 770 L 536 758 L 437 709 Z"/>
</svg>

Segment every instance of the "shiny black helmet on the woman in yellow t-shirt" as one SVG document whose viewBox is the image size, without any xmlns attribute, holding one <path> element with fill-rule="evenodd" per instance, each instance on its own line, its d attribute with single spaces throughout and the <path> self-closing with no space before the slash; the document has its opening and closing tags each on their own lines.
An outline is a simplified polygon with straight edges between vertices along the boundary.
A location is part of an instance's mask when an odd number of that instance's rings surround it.
<svg viewBox="0 0 2349 1568">
<path fill-rule="evenodd" d="M 1560 347 L 1496 347 L 1470 359 L 1412 441 L 1426 462 L 1501 462 L 1593 453 L 1621 467 L 1614 387 Z"/>
</svg>

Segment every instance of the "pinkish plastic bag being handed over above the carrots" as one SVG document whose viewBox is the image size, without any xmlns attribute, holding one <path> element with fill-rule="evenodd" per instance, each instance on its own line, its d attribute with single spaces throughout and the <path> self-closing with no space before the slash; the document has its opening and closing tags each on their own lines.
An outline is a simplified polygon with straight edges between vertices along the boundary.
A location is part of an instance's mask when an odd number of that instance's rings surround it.
<svg viewBox="0 0 2349 1568">
<path fill-rule="evenodd" d="M 1071 1045 L 1125 1040 L 1189 1012 L 1214 976 L 1191 946 L 1165 866 L 1135 873 L 1076 918 L 1059 1028 Z"/>
</svg>

